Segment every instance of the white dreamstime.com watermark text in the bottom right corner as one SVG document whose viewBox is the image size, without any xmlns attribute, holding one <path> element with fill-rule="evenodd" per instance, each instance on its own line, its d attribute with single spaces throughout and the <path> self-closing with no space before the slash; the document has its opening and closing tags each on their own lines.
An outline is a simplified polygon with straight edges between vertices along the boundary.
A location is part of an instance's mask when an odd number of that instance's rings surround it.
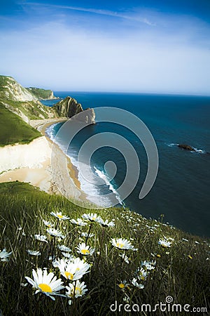
<svg viewBox="0 0 210 316">
<path fill-rule="evenodd" d="M 193 308 L 190 304 L 173 303 L 174 298 L 167 296 L 165 303 L 158 303 L 152 306 L 151 304 L 118 304 L 118 301 L 110 305 L 111 312 L 207 312 L 207 308 Z"/>
</svg>

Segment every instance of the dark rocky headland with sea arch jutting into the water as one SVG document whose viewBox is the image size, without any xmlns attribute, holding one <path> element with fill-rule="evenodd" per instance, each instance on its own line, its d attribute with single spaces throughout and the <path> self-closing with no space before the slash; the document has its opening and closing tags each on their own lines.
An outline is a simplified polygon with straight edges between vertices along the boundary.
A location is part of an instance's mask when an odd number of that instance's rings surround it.
<svg viewBox="0 0 210 316">
<path fill-rule="evenodd" d="M 93 109 L 83 110 L 82 105 L 71 97 L 66 97 L 64 100 L 59 101 L 54 105 L 53 109 L 59 117 L 71 118 L 74 115 L 80 113 L 79 117 L 76 117 L 78 121 L 85 121 L 87 124 L 94 124 L 95 113 Z"/>
</svg>

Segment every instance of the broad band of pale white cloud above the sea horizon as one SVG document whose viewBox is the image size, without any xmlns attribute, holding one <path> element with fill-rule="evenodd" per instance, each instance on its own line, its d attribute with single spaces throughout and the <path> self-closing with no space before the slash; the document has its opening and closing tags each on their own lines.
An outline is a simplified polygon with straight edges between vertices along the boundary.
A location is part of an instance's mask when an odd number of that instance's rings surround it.
<svg viewBox="0 0 210 316">
<path fill-rule="evenodd" d="M 25 86 L 54 90 L 210 94 L 210 54 L 190 34 L 125 37 L 49 22 L 0 34 L 1 71 Z"/>
</svg>

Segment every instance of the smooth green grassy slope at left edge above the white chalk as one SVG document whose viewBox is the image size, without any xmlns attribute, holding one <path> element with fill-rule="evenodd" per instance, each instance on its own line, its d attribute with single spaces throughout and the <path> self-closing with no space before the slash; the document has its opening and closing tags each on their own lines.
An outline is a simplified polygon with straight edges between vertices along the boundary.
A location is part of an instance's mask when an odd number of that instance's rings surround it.
<svg viewBox="0 0 210 316">
<path fill-rule="evenodd" d="M 0 146 L 14 143 L 29 143 L 41 136 L 39 131 L 29 126 L 18 115 L 10 112 L 0 102 Z"/>
</svg>

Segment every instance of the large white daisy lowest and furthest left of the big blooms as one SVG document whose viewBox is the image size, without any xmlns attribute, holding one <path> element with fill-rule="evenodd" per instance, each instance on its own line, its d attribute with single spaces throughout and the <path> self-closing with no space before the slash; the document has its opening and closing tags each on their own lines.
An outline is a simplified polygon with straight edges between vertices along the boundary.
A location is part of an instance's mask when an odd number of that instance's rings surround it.
<svg viewBox="0 0 210 316">
<path fill-rule="evenodd" d="M 37 269 L 32 271 L 34 279 L 25 277 L 27 281 L 36 289 L 35 294 L 41 292 L 55 301 L 54 295 L 63 296 L 59 294 L 61 289 L 64 289 L 64 285 L 61 279 L 57 279 L 53 272 L 48 274 L 47 270 Z"/>
</svg>

